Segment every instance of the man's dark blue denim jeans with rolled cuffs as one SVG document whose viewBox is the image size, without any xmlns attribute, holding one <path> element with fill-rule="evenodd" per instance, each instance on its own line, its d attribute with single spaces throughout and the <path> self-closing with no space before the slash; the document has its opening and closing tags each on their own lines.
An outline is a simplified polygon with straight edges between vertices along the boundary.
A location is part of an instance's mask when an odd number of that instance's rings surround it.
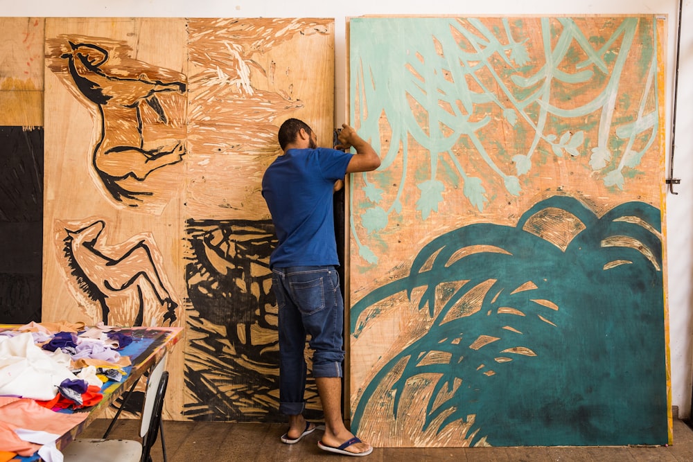
<svg viewBox="0 0 693 462">
<path fill-rule="evenodd" d="M 304 411 L 306 335 L 313 349 L 313 377 L 342 377 L 344 299 L 333 266 L 272 269 L 279 308 L 279 411 Z"/>
</svg>

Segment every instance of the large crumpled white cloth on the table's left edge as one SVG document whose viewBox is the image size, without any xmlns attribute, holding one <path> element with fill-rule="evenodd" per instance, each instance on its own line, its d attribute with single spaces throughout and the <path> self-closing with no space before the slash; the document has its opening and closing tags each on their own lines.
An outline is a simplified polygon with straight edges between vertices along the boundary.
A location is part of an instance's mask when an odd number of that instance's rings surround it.
<svg viewBox="0 0 693 462">
<path fill-rule="evenodd" d="M 52 400 L 66 379 L 77 377 L 36 346 L 29 332 L 0 337 L 0 395 Z"/>
</svg>

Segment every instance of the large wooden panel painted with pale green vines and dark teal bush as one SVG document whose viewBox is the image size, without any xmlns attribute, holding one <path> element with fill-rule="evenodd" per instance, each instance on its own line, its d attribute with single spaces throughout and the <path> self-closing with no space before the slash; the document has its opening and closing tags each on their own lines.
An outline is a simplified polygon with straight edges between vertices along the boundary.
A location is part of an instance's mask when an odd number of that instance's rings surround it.
<svg viewBox="0 0 693 462">
<path fill-rule="evenodd" d="M 361 436 L 667 443 L 660 22 L 351 20 Z"/>
</svg>

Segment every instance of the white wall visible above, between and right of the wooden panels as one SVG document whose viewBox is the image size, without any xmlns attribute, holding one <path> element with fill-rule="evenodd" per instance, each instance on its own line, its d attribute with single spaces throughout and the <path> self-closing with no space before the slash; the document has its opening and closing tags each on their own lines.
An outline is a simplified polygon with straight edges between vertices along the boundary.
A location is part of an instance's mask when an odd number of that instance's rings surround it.
<svg viewBox="0 0 693 462">
<path fill-rule="evenodd" d="M 667 42 L 667 147 L 672 144 L 674 69 L 681 0 L 0 0 L 3 16 L 34 17 L 333 17 L 335 19 L 335 126 L 346 118 L 345 21 L 362 15 L 593 15 L 662 14 L 669 18 Z M 667 254 L 672 404 L 690 414 L 693 349 L 693 7 L 683 1 L 676 109 L 674 186 L 667 194 Z M 670 149 L 667 148 L 667 175 Z M 664 179 L 663 179 L 664 181 Z M 637 355 L 637 351 L 624 352 Z"/>
</svg>

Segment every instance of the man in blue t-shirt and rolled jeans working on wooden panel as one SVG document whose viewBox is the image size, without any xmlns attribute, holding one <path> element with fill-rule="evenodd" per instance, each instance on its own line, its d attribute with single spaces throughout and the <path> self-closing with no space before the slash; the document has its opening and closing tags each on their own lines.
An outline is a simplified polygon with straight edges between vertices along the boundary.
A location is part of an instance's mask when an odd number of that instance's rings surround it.
<svg viewBox="0 0 693 462">
<path fill-rule="evenodd" d="M 380 158 L 352 127 L 342 127 L 340 148 L 353 146 L 356 154 L 317 148 L 317 136 L 306 123 L 295 118 L 284 122 L 278 134 L 283 155 L 265 171 L 262 194 L 279 239 L 270 268 L 279 307 L 279 411 L 289 418 L 281 441 L 298 443 L 315 430 L 303 417 L 304 346 L 310 335 L 313 376 L 325 415 L 318 445 L 328 452 L 365 456 L 373 447 L 344 426 L 340 404 L 344 301 L 335 270 L 332 195 L 347 173 L 375 170 Z"/>
</svg>

